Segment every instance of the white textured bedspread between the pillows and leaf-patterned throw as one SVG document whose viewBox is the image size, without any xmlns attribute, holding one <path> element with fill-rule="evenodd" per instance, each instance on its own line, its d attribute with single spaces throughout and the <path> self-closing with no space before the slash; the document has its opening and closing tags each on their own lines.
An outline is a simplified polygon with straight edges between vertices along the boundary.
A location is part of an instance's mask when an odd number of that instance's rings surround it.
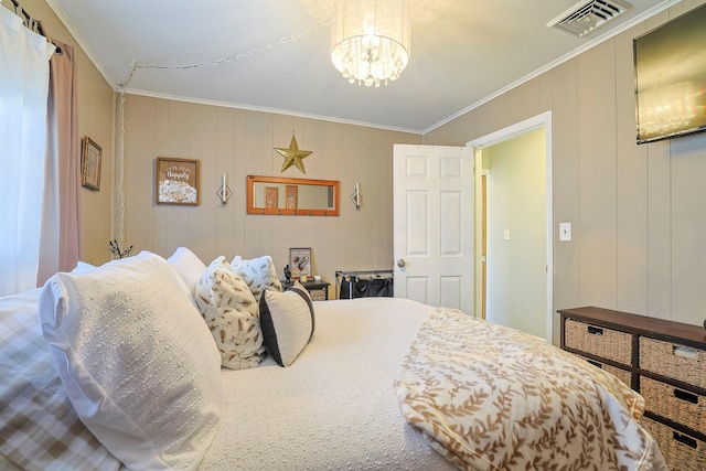
<svg viewBox="0 0 706 471">
<path fill-rule="evenodd" d="M 453 469 L 404 422 L 394 387 L 432 308 L 361 298 L 314 310 L 313 339 L 291 366 L 224 370 L 226 420 L 201 469 Z"/>
</svg>

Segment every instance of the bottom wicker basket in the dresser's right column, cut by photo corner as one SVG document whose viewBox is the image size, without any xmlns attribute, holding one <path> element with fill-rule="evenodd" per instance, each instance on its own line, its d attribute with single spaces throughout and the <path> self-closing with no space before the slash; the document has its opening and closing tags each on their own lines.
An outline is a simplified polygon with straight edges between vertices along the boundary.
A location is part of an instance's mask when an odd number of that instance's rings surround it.
<svg viewBox="0 0 706 471">
<path fill-rule="evenodd" d="M 662 450 L 666 464 L 672 471 L 696 471 L 706 469 L 706 443 L 681 433 L 664 424 L 646 417 L 643 424 Z"/>
</svg>

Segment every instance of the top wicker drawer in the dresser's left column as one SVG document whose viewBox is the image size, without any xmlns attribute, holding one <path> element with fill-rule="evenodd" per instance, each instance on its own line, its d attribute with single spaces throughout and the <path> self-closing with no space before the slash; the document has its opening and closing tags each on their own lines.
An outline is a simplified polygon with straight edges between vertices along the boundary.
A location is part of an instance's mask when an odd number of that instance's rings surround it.
<svg viewBox="0 0 706 471">
<path fill-rule="evenodd" d="M 632 335 L 625 332 L 566 319 L 564 344 L 625 366 L 632 363 Z"/>
</svg>

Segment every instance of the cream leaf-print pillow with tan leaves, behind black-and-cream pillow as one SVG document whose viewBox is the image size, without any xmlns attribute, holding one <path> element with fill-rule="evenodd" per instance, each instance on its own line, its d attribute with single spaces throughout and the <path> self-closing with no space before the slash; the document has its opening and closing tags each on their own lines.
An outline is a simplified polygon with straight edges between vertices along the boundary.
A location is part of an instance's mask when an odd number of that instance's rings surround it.
<svg viewBox="0 0 706 471">
<path fill-rule="evenodd" d="M 196 306 L 221 352 L 223 366 L 258 366 L 265 354 L 257 301 L 225 257 L 213 260 L 196 285 Z"/>
</svg>

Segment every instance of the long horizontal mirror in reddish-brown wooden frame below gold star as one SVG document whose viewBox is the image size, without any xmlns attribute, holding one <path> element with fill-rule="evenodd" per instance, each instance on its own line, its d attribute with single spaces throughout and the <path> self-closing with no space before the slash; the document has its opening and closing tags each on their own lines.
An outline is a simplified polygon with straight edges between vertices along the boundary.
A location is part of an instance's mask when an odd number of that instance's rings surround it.
<svg viewBox="0 0 706 471">
<path fill-rule="evenodd" d="M 339 181 L 247 175 L 247 214 L 338 216 Z"/>
</svg>

